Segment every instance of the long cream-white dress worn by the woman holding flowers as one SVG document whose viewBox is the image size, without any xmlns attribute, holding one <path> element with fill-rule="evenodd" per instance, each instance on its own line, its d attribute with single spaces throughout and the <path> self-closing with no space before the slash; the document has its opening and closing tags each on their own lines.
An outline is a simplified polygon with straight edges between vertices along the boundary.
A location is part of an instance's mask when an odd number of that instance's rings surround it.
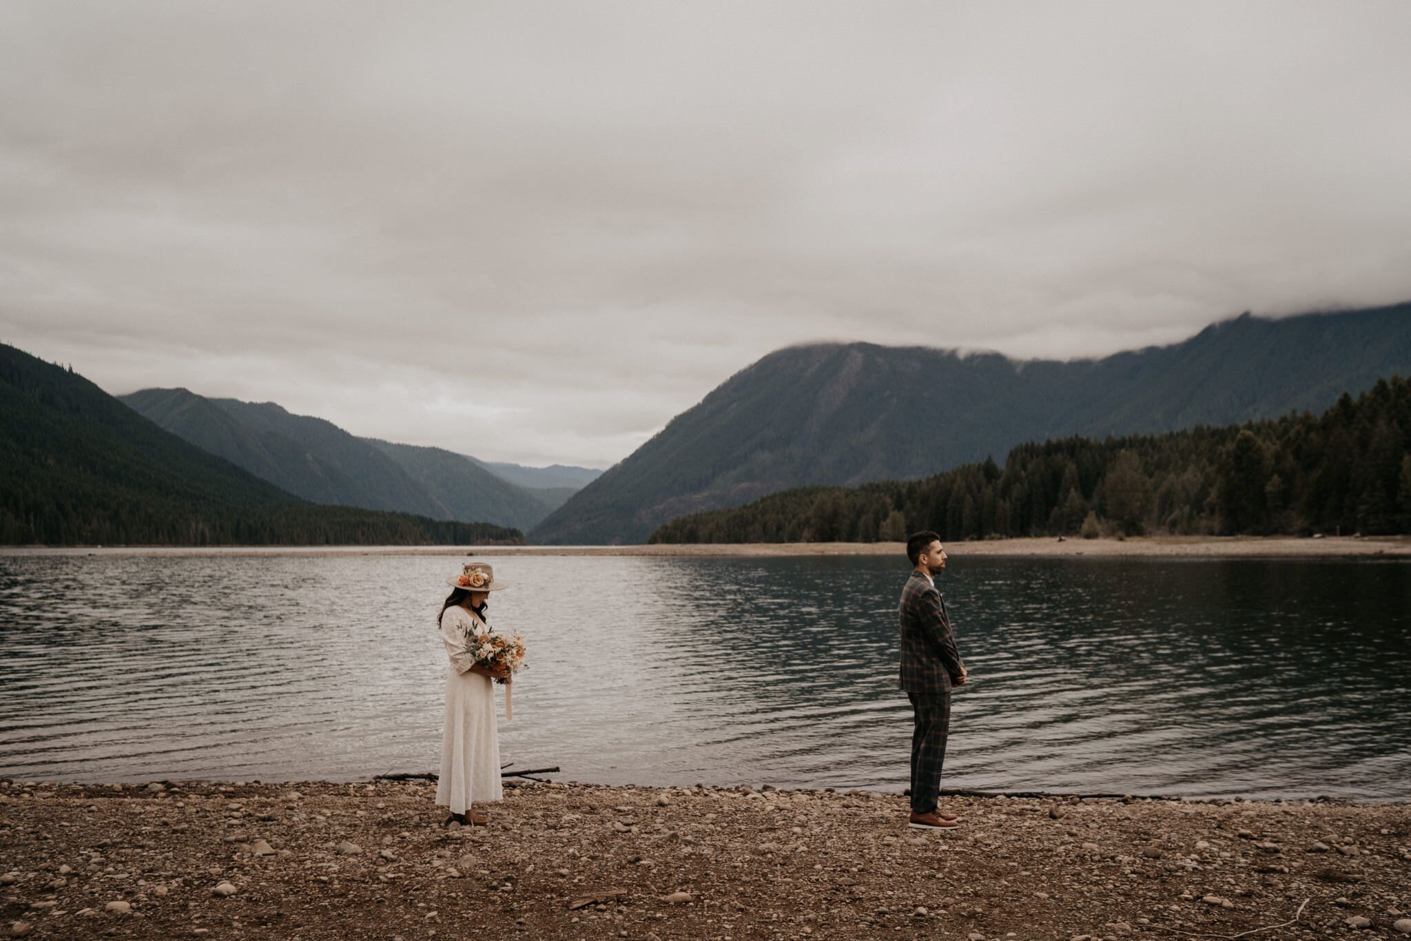
<svg viewBox="0 0 1411 941">
<path fill-rule="evenodd" d="M 460 605 L 442 615 L 442 639 L 450 669 L 446 670 L 446 731 L 442 738 L 442 770 L 436 803 L 464 814 L 474 800 L 501 800 L 499 739 L 495 734 L 494 683 L 466 653 L 466 639 L 487 631 L 485 622 Z"/>
</svg>

